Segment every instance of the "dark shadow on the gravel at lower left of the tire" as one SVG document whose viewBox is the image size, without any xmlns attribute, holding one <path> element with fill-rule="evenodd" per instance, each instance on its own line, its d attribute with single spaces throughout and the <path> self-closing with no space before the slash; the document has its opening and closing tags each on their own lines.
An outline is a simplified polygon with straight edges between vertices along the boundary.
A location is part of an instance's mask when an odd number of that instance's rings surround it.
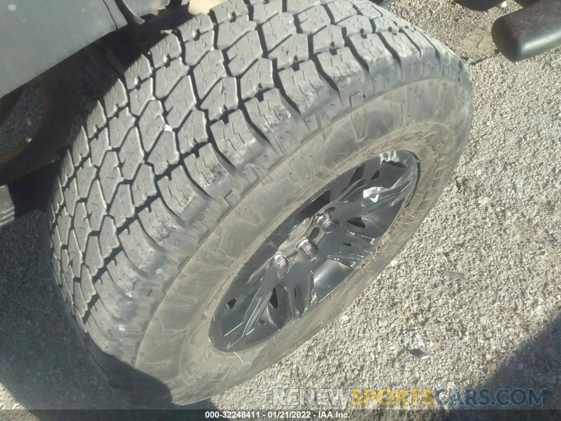
<svg viewBox="0 0 561 421">
<path fill-rule="evenodd" d="M 135 405 L 112 391 L 95 373 L 62 305 L 48 271 L 45 216 L 27 214 L 0 230 L 0 384 L 29 409 L 2 419 L 144 419 L 147 413 L 123 411 L 43 411 L 67 409 L 153 409 Z M 167 387 L 154 378 L 154 387 Z M 210 401 L 167 409 L 215 409 Z M 174 411 L 175 413 L 177 411 Z M 183 411 L 153 413 L 147 419 L 189 419 Z M 143 415 L 144 414 L 144 415 Z M 9 417 L 8 417 L 9 416 Z M 122 418 L 121 418 L 122 417 Z M 200 417 L 199 417 L 200 418 Z"/>
</svg>

